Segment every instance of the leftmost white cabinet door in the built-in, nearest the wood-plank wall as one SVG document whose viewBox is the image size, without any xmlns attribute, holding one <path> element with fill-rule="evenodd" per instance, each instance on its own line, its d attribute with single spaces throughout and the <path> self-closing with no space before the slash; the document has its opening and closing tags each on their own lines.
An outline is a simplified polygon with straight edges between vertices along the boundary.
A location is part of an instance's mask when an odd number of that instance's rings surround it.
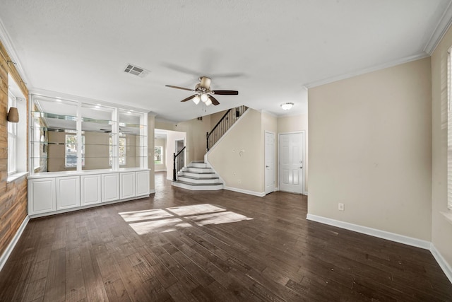
<svg viewBox="0 0 452 302">
<path fill-rule="evenodd" d="M 28 180 L 28 214 L 55 211 L 55 178 Z"/>
</svg>

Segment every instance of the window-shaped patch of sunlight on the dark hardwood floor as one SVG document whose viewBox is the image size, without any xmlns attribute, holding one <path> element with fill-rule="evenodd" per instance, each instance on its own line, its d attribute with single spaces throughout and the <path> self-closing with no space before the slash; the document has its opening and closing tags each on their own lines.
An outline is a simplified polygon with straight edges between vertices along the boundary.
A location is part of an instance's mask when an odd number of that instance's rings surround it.
<svg viewBox="0 0 452 302">
<path fill-rule="evenodd" d="M 207 226 L 208 224 L 233 223 L 252 220 L 252 218 L 213 205 L 196 204 L 166 209 L 150 209 L 119 213 L 124 221 L 129 222 L 138 235 L 147 233 L 165 233 L 177 231 L 190 226 Z"/>
</svg>

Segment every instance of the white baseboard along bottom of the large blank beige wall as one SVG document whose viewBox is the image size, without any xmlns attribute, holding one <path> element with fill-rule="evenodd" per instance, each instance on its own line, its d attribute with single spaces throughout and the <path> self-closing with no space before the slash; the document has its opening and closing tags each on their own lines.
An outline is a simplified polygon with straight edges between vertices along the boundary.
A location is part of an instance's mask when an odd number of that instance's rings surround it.
<svg viewBox="0 0 452 302">
<path fill-rule="evenodd" d="M 368 228 L 367 226 L 359 226 L 357 224 L 348 223 L 344 221 L 338 221 L 335 219 L 329 219 L 322 216 L 307 214 L 306 216 L 307 220 L 316 221 L 320 223 L 325 223 L 330 226 L 337 226 L 338 228 L 345 228 L 346 230 L 355 231 L 358 233 L 363 233 L 366 235 L 383 238 L 387 240 L 391 240 L 397 243 L 403 243 L 406 245 L 411 245 L 416 248 L 423 248 L 424 250 L 430 250 L 431 243 L 426 240 L 421 240 L 417 238 L 412 238 L 408 236 L 399 235 L 396 233 L 381 231 L 376 228 Z"/>
</svg>

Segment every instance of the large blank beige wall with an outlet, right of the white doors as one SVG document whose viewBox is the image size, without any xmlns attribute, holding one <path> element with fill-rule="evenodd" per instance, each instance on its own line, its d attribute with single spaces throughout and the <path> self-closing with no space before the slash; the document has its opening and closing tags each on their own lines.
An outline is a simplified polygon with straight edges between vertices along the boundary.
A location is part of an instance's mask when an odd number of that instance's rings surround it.
<svg viewBox="0 0 452 302">
<path fill-rule="evenodd" d="M 431 240 L 430 81 L 426 58 L 309 89 L 309 214 Z"/>
</svg>

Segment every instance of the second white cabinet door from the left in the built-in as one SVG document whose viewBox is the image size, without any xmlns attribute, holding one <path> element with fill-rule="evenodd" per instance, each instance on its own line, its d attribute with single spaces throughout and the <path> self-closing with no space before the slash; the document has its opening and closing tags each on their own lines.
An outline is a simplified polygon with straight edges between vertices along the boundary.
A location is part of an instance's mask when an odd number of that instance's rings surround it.
<svg viewBox="0 0 452 302">
<path fill-rule="evenodd" d="M 57 178 L 57 210 L 80 207 L 80 177 Z"/>
</svg>

